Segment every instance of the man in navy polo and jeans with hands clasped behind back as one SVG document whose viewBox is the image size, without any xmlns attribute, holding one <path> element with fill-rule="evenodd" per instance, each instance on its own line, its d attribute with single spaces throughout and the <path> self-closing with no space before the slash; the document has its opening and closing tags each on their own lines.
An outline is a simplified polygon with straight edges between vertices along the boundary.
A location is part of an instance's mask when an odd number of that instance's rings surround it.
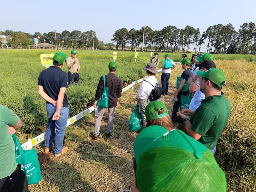
<svg viewBox="0 0 256 192">
<path fill-rule="evenodd" d="M 68 75 L 61 69 L 65 59 L 64 53 L 56 53 L 53 57 L 53 66 L 43 70 L 38 77 L 38 94 L 46 100 L 48 119 L 45 152 L 50 152 L 55 137 L 54 155 L 56 157 L 68 149 L 66 146 L 63 147 L 69 110 L 69 103 L 65 94 L 66 88 L 68 88 Z"/>
</svg>

